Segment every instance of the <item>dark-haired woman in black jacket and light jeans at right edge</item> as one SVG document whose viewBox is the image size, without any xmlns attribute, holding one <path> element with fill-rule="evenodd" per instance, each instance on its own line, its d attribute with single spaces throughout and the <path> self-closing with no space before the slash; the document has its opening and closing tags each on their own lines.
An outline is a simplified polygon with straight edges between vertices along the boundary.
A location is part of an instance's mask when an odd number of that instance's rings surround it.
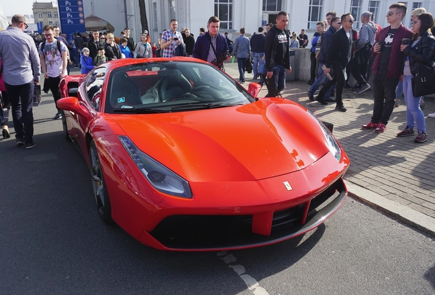
<svg viewBox="0 0 435 295">
<path fill-rule="evenodd" d="M 403 68 L 404 96 L 406 101 L 406 128 L 397 133 L 398 137 L 414 135 L 414 126 L 417 125 L 416 143 L 427 141 L 425 115 L 420 108 L 420 97 L 412 94 L 411 79 L 421 70 L 420 65 L 430 69 L 435 67 L 435 38 L 431 29 L 434 27 L 434 17 L 430 13 L 423 13 L 417 16 L 412 23 L 414 37 L 410 44 L 401 44 L 400 50 L 404 52 L 405 63 Z"/>
</svg>

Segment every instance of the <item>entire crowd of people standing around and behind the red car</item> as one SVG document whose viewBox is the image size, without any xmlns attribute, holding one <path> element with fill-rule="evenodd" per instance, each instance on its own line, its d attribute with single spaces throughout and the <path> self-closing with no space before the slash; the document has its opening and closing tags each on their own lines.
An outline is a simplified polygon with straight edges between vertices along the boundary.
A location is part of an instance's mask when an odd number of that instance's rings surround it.
<svg viewBox="0 0 435 295">
<path fill-rule="evenodd" d="M 135 43 L 127 27 L 119 37 L 96 30 L 77 32 L 70 42 L 60 34 L 59 27 L 51 25 L 44 26 L 42 35 L 29 36 L 23 33 L 27 28 L 25 17 L 16 14 L 12 25 L 0 32 L 2 103 L 5 107 L 12 107 L 16 144 L 30 149 L 36 145 L 33 141 L 32 99 L 41 70 L 44 74 L 43 90 L 46 93 L 51 91 L 57 102 L 60 80 L 70 73 L 72 66 L 80 68 L 81 74 L 87 74 L 113 59 L 186 56 L 224 69 L 224 61 L 237 57 L 239 83 L 245 82 L 246 64 L 252 59 L 253 79 L 260 79 L 261 85 L 267 85 L 267 96 L 278 96 L 285 88 L 286 74 L 292 70 L 290 48 L 305 48 L 311 44 L 309 100 L 320 104 L 332 102 L 337 111 L 347 111 L 342 94 L 345 87 L 350 87 L 352 74 L 356 85 L 350 88 L 356 94 L 373 89 L 373 116 L 362 128 L 382 133 L 403 93 L 406 128 L 397 136 L 414 135 L 414 128 L 417 128 L 414 141 L 423 143 L 427 140 L 425 117 L 421 111 L 424 102 L 423 97 L 413 96 L 412 77 L 421 74 L 421 64 L 435 68 L 435 38 L 431 32 L 434 18 L 424 8 L 413 10 L 412 27 L 408 29 L 402 24 L 406 12 L 403 3 L 390 5 L 386 14 L 389 25 L 383 29 L 373 22 L 373 13 L 363 12 L 359 32 L 353 28 L 355 19 L 352 14 L 339 17 L 336 12 L 328 12 L 326 20 L 317 23 L 311 42 L 304 29 L 299 36 L 286 29 L 289 23 L 287 12 L 279 12 L 275 24 L 266 25 L 265 31 L 259 27 L 251 38 L 246 36 L 246 29 L 242 27 L 234 41 L 228 38 L 228 32 L 219 33 L 220 20 L 216 16 L 209 18 L 207 29 L 200 28 L 196 40 L 189 28 L 178 31 L 178 21 L 172 19 L 169 29 L 160 33 L 157 43 L 151 42 L 146 30 L 140 36 L 140 42 Z M 369 85 L 371 77 L 373 82 Z M 315 97 L 321 85 L 323 87 Z M 429 116 L 435 117 L 435 113 Z M 61 118 L 62 111 L 57 109 L 54 119 Z M 3 138 L 10 137 L 7 123 L 7 120 L 2 122 Z"/>
</svg>

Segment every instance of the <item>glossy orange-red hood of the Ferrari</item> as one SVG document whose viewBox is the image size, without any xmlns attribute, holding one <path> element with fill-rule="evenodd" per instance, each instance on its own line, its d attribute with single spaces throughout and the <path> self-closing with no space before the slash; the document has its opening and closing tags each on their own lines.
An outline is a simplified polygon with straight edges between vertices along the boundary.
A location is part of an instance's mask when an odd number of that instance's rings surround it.
<svg viewBox="0 0 435 295">
<path fill-rule="evenodd" d="M 111 117 L 137 148 L 187 181 L 271 178 L 304 169 L 328 152 L 317 120 L 285 99 Z"/>
</svg>

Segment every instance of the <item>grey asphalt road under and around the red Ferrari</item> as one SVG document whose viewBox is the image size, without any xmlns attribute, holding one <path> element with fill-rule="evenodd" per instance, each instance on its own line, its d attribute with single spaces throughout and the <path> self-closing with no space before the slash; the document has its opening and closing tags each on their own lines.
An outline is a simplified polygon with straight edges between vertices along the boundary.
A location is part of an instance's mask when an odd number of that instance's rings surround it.
<svg viewBox="0 0 435 295">
<path fill-rule="evenodd" d="M 435 294 L 434 238 L 351 198 L 324 225 L 269 247 L 146 247 L 98 219 L 53 99 L 34 113 L 35 148 L 17 147 L 14 133 L 0 140 L 0 294 Z"/>
</svg>

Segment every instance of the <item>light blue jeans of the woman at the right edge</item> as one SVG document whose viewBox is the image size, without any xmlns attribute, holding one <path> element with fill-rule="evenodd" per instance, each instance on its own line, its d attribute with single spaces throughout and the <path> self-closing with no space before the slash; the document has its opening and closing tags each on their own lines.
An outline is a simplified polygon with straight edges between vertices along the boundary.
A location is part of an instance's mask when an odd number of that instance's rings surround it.
<svg viewBox="0 0 435 295">
<path fill-rule="evenodd" d="M 420 109 L 421 96 L 416 98 L 412 94 L 412 75 L 404 76 L 404 96 L 406 102 L 406 126 L 414 129 L 417 125 L 417 131 L 426 133 L 425 115 Z"/>
</svg>

